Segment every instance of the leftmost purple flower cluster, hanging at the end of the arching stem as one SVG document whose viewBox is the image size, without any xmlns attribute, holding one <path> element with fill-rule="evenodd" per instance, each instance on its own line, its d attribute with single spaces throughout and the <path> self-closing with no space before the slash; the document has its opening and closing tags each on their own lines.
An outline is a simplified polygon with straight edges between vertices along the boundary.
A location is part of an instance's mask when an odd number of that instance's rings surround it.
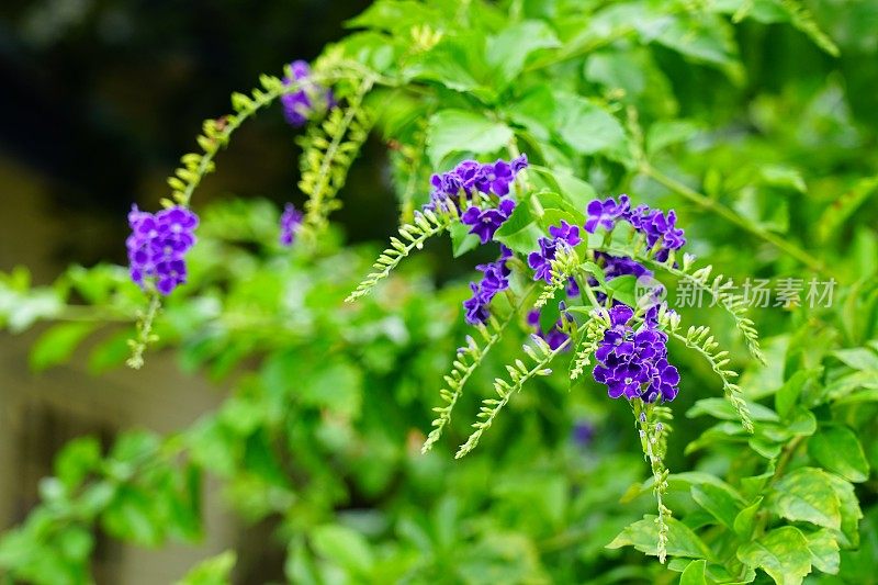
<svg viewBox="0 0 878 585">
<path fill-rule="evenodd" d="M 156 214 L 132 205 L 128 213 L 131 236 L 128 248 L 131 279 L 140 288 L 155 278 L 156 289 L 170 294 L 185 282 L 185 252 L 195 244 L 199 217 L 187 207 L 173 206 Z"/>
</svg>

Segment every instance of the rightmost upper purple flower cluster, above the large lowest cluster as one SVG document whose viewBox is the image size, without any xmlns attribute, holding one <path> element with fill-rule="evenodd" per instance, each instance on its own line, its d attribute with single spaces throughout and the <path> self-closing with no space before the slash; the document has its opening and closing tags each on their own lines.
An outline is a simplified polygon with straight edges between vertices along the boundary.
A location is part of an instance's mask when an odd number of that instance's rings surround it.
<svg viewBox="0 0 878 585">
<path fill-rule="evenodd" d="M 667 214 L 649 205 L 638 205 L 632 210 L 628 195 L 619 195 L 618 202 L 612 198 L 604 201 L 596 199 L 588 204 L 586 212 L 586 232 L 594 234 L 598 226 L 609 230 L 616 226 L 616 222 L 623 220 L 646 236 L 650 248 L 658 246 L 655 255 L 658 261 L 667 260 L 671 250 L 679 249 L 686 244 L 683 229 L 676 227 L 677 214 L 674 210 Z"/>
</svg>

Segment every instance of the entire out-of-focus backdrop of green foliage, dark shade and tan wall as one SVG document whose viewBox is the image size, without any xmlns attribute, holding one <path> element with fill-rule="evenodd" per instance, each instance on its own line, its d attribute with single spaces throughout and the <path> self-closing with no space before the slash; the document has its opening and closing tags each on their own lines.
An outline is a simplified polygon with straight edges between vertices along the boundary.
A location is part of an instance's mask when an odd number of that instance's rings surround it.
<svg viewBox="0 0 878 585">
<path fill-rule="evenodd" d="M 577 5 L 514 3 L 533 13 L 544 9 L 547 19 Z M 260 72 L 316 56 L 368 4 L 4 1 L 0 271 L 24 265 L 40 285 L 70 263 L 124 263 L 131 202 L 158 206 L 165 178 L 193 148 L 201 121 L 225 113 L 228 93 L 251 87 Z M 878 2 L 808 5 L 840 46 L 838 58 L 787 23 L 747 20 L 722 29 L 733 31 L 729 41 L 740 55 L 706 49 L 699 57 L 622 41 L 583 56 L 570 66 L 575 74 L 565 75 L 584 94 L 637 106 L 644 125 L 686 121 L 689 126 L 676 128 L 685 138 L 658 148 L 653 162 L 799 243 L 853 282 L 874 273 L 878 258 L 874 198 L 849 207 L 842 196 L 878 169 Z M 740 75 L 730 75 L 739 56 Z M 200 188 L 195 207 L 204 223 L 192 257 L 193 296 L 169 302 L 160 330 L 176 351 L 150 353 L 140 372 L 114 368 L 128 331 L 111 325 L 69 363 L 34 374 L 30 348 L 46 327 L 0 334 L 0 528 L 23 521 L 47 499 L 50 484 L 42 480 L 58 474 L 53 460 L 70 439 L 93 436 L 104 451 L 115 449 L 114 460 L 131 463 L 126 458 L 158 457 L 159 435 L 188 429 L 189 458 L 212 472 L 193 490 L 203 500 L 180 495 L 185 490 L 173 483 L 176 471 L 167 475 L 173 482 L 147 474 L 128 486 L 120 496 L 123 511 L 111 510 L 112 520 L 95 531 L 99 583 L 168 583 L 226 549 L 237 550 L 236 583 L 306 583 L 314 566 L 351 583 L 365 582 L 365 566 L 384 582 L 669 583 L 673 575 L 652 559 L 604 549 L 654 502 L 632 494 L 620 503 L 648 469 L 627 406 L 594 384 L 569 390 L 563 371 L 532 384 L 477 451 L 451 459 L 477 398 L 518 356 L 524 328 L 479 371 L 442 447 L 419 454 L 441 375 L 468 333 L 460 314 L 466 279 L 458 277 L 476 260 L 452 260 L 440 241 L 375 299 L 341 307 L 376 250 L 349 244 L 384 240 L 397 222 L 387 148 L 376 135 L 367 143 L 342 192 L 345 207 L 334 215 L 340 228 L 317 258 L 299 250 L 288 258 L 273 240 L 280 205 L 302 203 L 293 136 L 279 109 L 261 113 L 236 134 Z M 609 194 L 618 171 L 589 165 L 584 178 Z M 645 177 L 624 187 L 641 201 L 676 207 L 690 249 L 736 280 L 809 275 Z M 845 215 L 828 212 L 833 206 Z M 68 278 L 79 282 L 76 272 Z M 124 282 L 112 269 L 89 278 L 100 300 Z M 451 284 L 439 290 L 438 282 Z M 81 289 L 76 295 L 93 301 Z M 123 289 L 121 296 L 123 306 L 136 306 L 136 291 Z M 217 326 L 212 319 L 221 301 Z M 874 312 L 837 311 L 825 322 L 847 328 L 824 339 L 875 338 Z M 766 392 L 784 381 L 790 338 L 822 330 L 801 315 L 758 312 L 775 359 L 762 370 L 745 361 L 722 315 L 705 311 L 698 318 L 716 325 L 735 365 L 747 369 L 750 386 Z M 674 348 L 672 355 L 684 382 L 668 466 L 733 473 L 735 446 L 684 453 L 708 426 L 684 413 L 719 389 L 695 358 Z M 120 436 L 127 442 L 113 448 Z M 161 445 L 177 463 L 173 443 Z M 876 461 L 874 447 L 868 457 Z M 857 566 L 868 567 L 878 558 L 878 515 L 871 487 L 859 495 L 871 511 L 863 529 L 868 552 Z M 691 506 L 687 496 L 677 495 L 675 510 Z M 154 497 L 179 500 L 180 509 L 150 507 Z M 187 506 L 203 511 L 203 527 Z M 120 543 L 120 535 L 135 544 Z M 48 582 L 68 574 L 49 562 L 63 549 L 56 544 L 37 551 Z M 863 570 L 847 582 L 873 578 Z"/>
</svg>

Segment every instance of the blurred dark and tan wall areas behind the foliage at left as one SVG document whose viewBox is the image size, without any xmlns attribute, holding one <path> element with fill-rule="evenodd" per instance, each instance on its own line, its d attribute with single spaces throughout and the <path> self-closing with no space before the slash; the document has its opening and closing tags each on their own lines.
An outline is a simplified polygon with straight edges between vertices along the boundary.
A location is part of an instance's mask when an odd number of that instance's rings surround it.
<svg viewBox="0 0 878 585">
<path fill-rule="evenodd" d="M 24 265 L 44 284 L 69 263 L 124 262 L 127 209 L 134 201 L 158 205 L 165 177 L 194 148 L 201 121 L 225 113 L 229 93 L 252 87 L 260 72 L 315 56 L 368 3 L 278 1 L 255 10 L 241 1 L 0 2 L 0 270 Z M 278 109 L 263 113 L 221 155 L 195 205 L 228 192 L 300 202 L 293 137 Z M 375 146 L 349 189 L 386 202 Z M 393 207 L 381 207 L 390 213 L 380 221 L 351 214 L 350 233 L 389 232 Z M 27 353 L 40 331 L 0 334 L 0 530 L 37 502 L 40 480 L 66 441 L 91 434 L 109 445 L 123 428 L 179 430 L 224 392 L 160 353 L 136 373 L 94 379 L 75 359 L 34 375 Z M 98 582 L 170 583 L 229 547 L 241 549 L 241 582 L 251 582 L 248 570 L 282 575 L 266 566 L 272 560 L 261 556 L 261 540 L 222 510 L 222 495 L 207 482 L 199 545 L 144 550 L 99 538 Z"/>
</svg>

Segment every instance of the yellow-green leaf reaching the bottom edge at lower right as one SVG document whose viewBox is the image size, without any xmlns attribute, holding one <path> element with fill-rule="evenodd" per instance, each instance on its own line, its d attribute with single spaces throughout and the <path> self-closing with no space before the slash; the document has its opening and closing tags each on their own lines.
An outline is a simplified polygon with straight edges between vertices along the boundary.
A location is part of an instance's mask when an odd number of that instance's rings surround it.
<svg viewBox="0 0 878 585">
<path fill-rule="evenodd" d="M 791 526 L 772 530 L 738 549 L 738 558 L 762 569 L 778 585 L 798 585 L 811 572 L 811 554 L 804 536 Z"/>
</svg>

